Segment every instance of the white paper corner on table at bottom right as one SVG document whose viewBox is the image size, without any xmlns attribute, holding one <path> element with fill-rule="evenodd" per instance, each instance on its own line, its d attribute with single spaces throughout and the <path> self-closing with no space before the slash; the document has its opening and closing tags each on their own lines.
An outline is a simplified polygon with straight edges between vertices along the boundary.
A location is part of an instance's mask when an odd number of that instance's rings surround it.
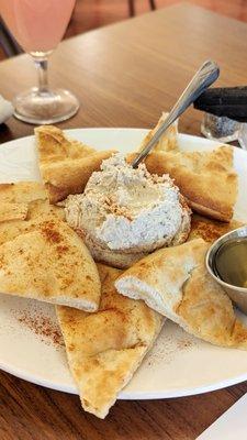
<svg viewBox="0 0 247 440">
<path fill-rule="evenodd" d="M 197 440 L 247 439 L 247 394 L 223 414 Z"/>
</svg>

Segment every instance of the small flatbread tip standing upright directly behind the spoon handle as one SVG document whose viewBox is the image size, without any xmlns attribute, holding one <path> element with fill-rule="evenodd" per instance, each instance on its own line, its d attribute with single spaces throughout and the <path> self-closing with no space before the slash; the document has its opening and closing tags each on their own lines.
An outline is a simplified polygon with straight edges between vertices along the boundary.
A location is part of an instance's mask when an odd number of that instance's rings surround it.
<svg viewBox="0 0 247 440">
<path fill-rule="evenodd" d="M 138 147 L 138 151 L 142 151 L 147 143 L 153 139 L 154 134 L 160 128 L 160 125 L 165 122 L 168 113 L 162 112 L 161 117 L 158 120 L 157 125 L 148 132 L 148 134 L 144 138 L 142 144 Z M 173 122 L 169 129 L 162 134 L 159 139 L 158 143 L 154 146 L 153 151 L 178 151 L 178 120 Z"/>
</svg>

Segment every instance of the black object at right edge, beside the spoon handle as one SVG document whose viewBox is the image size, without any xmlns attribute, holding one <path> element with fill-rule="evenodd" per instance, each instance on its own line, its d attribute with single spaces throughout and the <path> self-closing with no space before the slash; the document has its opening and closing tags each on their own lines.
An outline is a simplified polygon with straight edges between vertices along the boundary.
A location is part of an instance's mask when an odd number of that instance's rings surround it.
<svg viewBox="0 0 247 440">
<path fill-rule="evenodd" d="M 217 117 L 247 122 L 247 86 L 207 89 L 197 99 L 194 108 Z"/>
</svg>

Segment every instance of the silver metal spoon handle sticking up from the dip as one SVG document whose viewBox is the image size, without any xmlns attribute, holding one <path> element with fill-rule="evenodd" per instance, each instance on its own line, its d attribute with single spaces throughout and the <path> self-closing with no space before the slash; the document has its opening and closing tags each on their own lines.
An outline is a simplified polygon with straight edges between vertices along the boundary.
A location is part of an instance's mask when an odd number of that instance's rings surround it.
<svg viewBox="0 0 247 440">
<path fill-rule="evenodd" d="M 166 121 L 157 130 L 151 140 L 147 143 L 147 145 L 143 148 L 143 151 L 135 157 L 132 162 L 132 166 L 136 168 L 138 164 L 147 156 L 147 154 L 151 151 L 151 148 L 156 145 L 159 138 L 164 134 L 164 132 L 170 127 L 176 119 L 182 114 L 188 107 L 195 101 L 195 99 L 210 87 L 220 75 L 220 68 L 216 63 L 207 61 L 205 62 L 200 69 L 195 73 L 187 88 L 183 90 L 182 95 L 176 102 L 175 107 L 171 109 L 168 114 Z"/>
</svg>

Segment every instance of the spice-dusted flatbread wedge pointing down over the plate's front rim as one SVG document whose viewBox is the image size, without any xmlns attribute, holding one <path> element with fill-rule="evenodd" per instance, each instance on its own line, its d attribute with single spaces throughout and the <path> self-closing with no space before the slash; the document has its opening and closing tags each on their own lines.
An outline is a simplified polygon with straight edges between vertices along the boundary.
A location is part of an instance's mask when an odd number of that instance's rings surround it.
<svg viewBox="0 0 247 440">
<path fill-rule="evenodd" d="M 86 314 L 57 307 L 71 374 L 86 411 L 104 418 L 157 338 L 164 318 L 143 301 L 119 295 L 121 271 L 98 265 L 100 309 Z"/>
</svg>

